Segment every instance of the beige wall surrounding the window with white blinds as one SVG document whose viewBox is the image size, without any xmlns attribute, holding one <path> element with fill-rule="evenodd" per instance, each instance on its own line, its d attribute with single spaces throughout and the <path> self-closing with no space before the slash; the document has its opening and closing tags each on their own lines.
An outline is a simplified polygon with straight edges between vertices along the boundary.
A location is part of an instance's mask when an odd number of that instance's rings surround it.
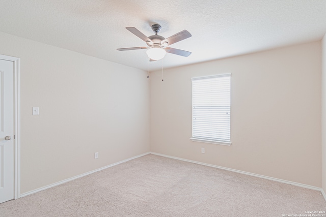
<svg viewBox="0 0 326 217">
<path fill-rule="evenodd" d="M 192 142 L 192 77 L 232 73 L 231 146 Z M 321 187 L 321 43 L 151 73 L 151 151 Z M 205 147 L 205 154 L 201 153 Z"/>
</svg>

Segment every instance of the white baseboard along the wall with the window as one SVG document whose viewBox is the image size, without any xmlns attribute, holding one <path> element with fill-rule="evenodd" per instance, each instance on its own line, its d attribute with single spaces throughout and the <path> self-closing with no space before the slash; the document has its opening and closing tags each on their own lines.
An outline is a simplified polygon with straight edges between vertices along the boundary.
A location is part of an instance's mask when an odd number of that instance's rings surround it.
<svg viewBox="0 0 326 217">
<path fill-rule="evenodd" d="M 177 157 L 173 157 L 173 156 L 168 156 L 166 154 L 160 154 L 160 153 L 155 153 L 155 152 L 150 152 L 150 153 L 155 154 L 157 156 L 161 156 L 161 157 L 172 158 L 172 159 L 191 162 L 191 163 L 195 163 L 195 164 L 201 164 L 201 165 L 205 165 L 205 166 L 209 166 L 209 167 L 219 168 L 219 169 L 223 169 L 223 170 L 227 170 L 227 171 L 231 171 L 231 172 L 241 173 L 241 174 L 244 174 L 244 175 L 255 176 L 255 177 L 258 177 L 258 178 L 264 178 L 264 179 L 268 179 L 268 180 L 271 180 L 271 181 L 278 181 L 278 182 L 282 182 L 282 183 L 286 183 L 286 184 L 295 185 L 297 187 L 302 187 L 302 188 L 306 188 L 306 189 L 319 191 L 319 192 L 322 193 L 324 199 L 326 200 L 326 195 L 322 191 L 322 189 L 318 188 L 318 187 L 314 187 L 312 185 L 297 183 L 297 182 L 293 182 L 293 181 L 287 181 L 287 180 L 283 180 L 283 179 L 279 179 L 279 178 L 273 178 L 273 177 L 259 175 L 259 174 L 250 173 L 250 172 L 244 172 L 244 171 L 241 171 L 241 170 L 235 170 L 235 169 L 230 169 L 230 168 L 227 168 L 227 167 L 221 167 L 221 166 L 216 166 L 216 165 L 212 165 L 212 164 L 206 164 L 206 163 L 202 163 L 202 162 L 198 162 L 198 161 L 192 161 L 192 160 L 187 160 L 187 159 L 183 159 L 183 158 L 177 158 Z"/>
</svg>

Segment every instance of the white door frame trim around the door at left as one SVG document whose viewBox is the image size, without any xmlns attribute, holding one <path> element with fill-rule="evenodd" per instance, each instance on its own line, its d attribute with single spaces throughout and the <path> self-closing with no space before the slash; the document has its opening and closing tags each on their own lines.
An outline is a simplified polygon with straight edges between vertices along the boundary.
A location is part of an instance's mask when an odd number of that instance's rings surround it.
<svg viewBox="0 0 326 217">
<path fill-rule="evenodd" d="M 20 58 L 0 54 L 14 64 L 14 199 L 20 198 Z"/>
</svg>

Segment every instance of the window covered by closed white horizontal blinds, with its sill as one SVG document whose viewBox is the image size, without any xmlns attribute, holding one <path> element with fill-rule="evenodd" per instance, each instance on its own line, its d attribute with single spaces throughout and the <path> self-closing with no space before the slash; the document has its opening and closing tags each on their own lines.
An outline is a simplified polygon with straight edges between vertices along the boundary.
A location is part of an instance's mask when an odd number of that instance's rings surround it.
<svg viewBox="0 0 326 217">
<path fill-rule="evenodd" d="M 231 74 L 192 78 L 192 141 L 231 145 Z"/>
</svg>

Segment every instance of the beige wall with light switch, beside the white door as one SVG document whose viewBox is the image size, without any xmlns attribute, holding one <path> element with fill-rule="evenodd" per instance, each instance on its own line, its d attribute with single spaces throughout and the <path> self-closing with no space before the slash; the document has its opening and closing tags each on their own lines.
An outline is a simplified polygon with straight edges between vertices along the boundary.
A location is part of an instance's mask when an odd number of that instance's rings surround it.
<svg viewBox="0 0 326 217">
<path fill-rule="evenodd" d="M 20 57 L 21 194 L 149 151 L 147 72 L 4 33 L 0 54 Z"/>
</svg>

